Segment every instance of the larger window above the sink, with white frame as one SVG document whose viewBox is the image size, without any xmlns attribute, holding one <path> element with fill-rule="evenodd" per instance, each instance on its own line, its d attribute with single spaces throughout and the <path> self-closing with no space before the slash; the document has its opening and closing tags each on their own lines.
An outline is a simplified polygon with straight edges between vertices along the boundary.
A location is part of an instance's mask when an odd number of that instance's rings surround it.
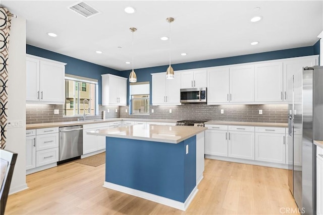
<svg viewBox="0 0 323 215">
<path fill-rule="evenodd" d="M 65 91 L 64 116 L 98 115 L 97 80 L 66 74 Z"/>
</svg>

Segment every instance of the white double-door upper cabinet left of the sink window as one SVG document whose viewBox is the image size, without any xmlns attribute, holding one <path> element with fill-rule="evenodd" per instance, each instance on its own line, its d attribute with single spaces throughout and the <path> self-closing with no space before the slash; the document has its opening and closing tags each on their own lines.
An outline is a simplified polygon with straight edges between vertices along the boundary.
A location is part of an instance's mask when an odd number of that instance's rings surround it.
<svg viewBox="0 0 323 215">
<path fill-rule="evenodd" d="M 65 65 L 66 63 L 27 54 L 27 103 L 64 104 Z"/>
</svg>

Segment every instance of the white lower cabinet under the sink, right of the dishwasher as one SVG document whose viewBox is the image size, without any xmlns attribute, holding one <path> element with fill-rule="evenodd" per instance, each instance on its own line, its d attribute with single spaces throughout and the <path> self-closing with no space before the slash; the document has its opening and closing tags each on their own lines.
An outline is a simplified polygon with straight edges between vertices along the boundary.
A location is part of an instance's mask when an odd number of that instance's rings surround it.
<svg viewBox="0 0 323 215">
<path fill-rule="evenodd" d="M 105 149 L 105 136 L 89 135 L 87 132 L 110 128 L 110 123 L 83 125 L 83 155 Z"/>
</svg>

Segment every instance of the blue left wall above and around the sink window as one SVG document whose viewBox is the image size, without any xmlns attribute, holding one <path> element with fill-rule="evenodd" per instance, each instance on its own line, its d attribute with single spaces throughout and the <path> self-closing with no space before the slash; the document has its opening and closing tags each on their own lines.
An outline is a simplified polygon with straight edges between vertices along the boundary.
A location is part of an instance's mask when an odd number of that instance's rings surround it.
<svg viewBox="0 0 323 215">
<path fill-rule="evenodd" d="M 75 76 L 82 76 L 86 78 L 92 78 L 98 80 L 98 103 L 101 104 L 101 74 L 114 74 L 117 76 L 122 76 L 125 73 L 105 66 L 90 63 L 84 60 L 76 59 L 74 57 L 69 57 L 67 55 L 59 54 L 56 52 L 48 51 L 46 49 L 38 48 L 35 46 L 27 45 L 27 54 L 44 57 L 51 60 L 57 60 L 60 62 L 65 62 L 65 73 Z"/>
</svg>

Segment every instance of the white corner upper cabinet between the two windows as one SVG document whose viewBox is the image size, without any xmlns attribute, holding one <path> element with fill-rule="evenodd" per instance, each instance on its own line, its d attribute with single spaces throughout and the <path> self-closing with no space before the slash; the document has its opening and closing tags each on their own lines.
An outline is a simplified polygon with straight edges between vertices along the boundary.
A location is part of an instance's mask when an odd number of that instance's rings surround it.
<svg viewBox="0 0 323 215">
<path fill-rule="evenodd" d="M 102 76 L 102 105 L 127 105 L 127 79 L 111 74 Z"/>
</svg>

